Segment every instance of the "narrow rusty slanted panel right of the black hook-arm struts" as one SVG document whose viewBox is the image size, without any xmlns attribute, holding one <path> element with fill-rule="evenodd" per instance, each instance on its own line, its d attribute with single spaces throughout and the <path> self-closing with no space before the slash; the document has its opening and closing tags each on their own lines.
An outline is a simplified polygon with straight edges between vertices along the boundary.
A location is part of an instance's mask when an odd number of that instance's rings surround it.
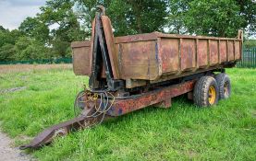
<svg viewBox="0 0 256 161">
<path fill-rule="evenodd" d="M 120 79 L 118 71 L 118 59 L 115 48 L 115 40 L 112 32 L 111 21 L 108 17 L 102 16 L 103 26 L 104 26 L 104 36 L 106 40 L 107 50 L 111 62 L 112 72 L 115 79 Z"/>
</svg>

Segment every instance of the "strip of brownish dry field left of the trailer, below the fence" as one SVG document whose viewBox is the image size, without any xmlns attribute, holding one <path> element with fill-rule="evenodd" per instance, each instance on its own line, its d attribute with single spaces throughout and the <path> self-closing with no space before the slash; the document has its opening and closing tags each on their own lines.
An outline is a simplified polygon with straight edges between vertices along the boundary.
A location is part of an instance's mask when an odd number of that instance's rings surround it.
<svg viewBox="0 0 256 161">
<path fill-rule="evenodd" d="M 59 64 L 8 64 L 0 65 L 0 74 L 13 72 L 30 72 L 45 69 L 72 69 L 71 63 Z"/>
</svg>

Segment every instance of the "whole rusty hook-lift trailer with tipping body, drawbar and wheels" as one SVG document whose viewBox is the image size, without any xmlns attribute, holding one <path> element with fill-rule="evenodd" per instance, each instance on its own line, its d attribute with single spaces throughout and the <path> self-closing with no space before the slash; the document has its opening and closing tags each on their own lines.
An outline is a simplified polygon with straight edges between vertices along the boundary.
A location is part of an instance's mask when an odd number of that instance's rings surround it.
<svg viewBox="0 0 256 161">
<path fill-rule="evenodd" d="M 56 136 L 151 105 L 168 109 L 172 98 L 183 94 L 201 108 L 230 97 L 225 68 L 241 59 L 241 30 L 233 39 L 159 32 L 115 38 L 99 6 L 91 32 L 91 40 L 71 44 L 74 73 L 90 76 L 89 88 L 75 99 L 77 117 L 46 129 L 20 149 L 39 148 Z"/>
</svg>

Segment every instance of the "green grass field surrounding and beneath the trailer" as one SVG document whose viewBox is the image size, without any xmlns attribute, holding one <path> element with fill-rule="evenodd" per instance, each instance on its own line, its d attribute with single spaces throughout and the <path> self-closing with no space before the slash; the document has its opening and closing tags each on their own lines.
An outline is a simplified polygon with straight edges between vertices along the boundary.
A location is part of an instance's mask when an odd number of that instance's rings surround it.
<svg viewBox="0 0 256 161">
<path fill-rule="evenodd" d="M 31 152 L 39 160 L 256 160 L 256 70 L 229 69 L 232 97 L 198 109 L 186 97 L 171 109 L 150 107 L 69 134 Z M 88 79 L 71 70 L 1 75 L 2 127 L 17 144 L 73 117 L 73 101 Z"/>
</svg>

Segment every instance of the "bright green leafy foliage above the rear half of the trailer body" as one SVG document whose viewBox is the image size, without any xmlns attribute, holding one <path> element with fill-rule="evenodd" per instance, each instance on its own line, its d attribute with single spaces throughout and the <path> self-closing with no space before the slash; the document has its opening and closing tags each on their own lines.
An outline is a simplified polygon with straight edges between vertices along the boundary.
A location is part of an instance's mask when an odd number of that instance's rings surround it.
<svg viewBox="0 0 256 161">
<path fill-rule="evenodd" d="M 169 8 L 169 32 L 235 37 L 238 29 L 255 30 L 250 0 L 169 0 Z"/>
</svg>

